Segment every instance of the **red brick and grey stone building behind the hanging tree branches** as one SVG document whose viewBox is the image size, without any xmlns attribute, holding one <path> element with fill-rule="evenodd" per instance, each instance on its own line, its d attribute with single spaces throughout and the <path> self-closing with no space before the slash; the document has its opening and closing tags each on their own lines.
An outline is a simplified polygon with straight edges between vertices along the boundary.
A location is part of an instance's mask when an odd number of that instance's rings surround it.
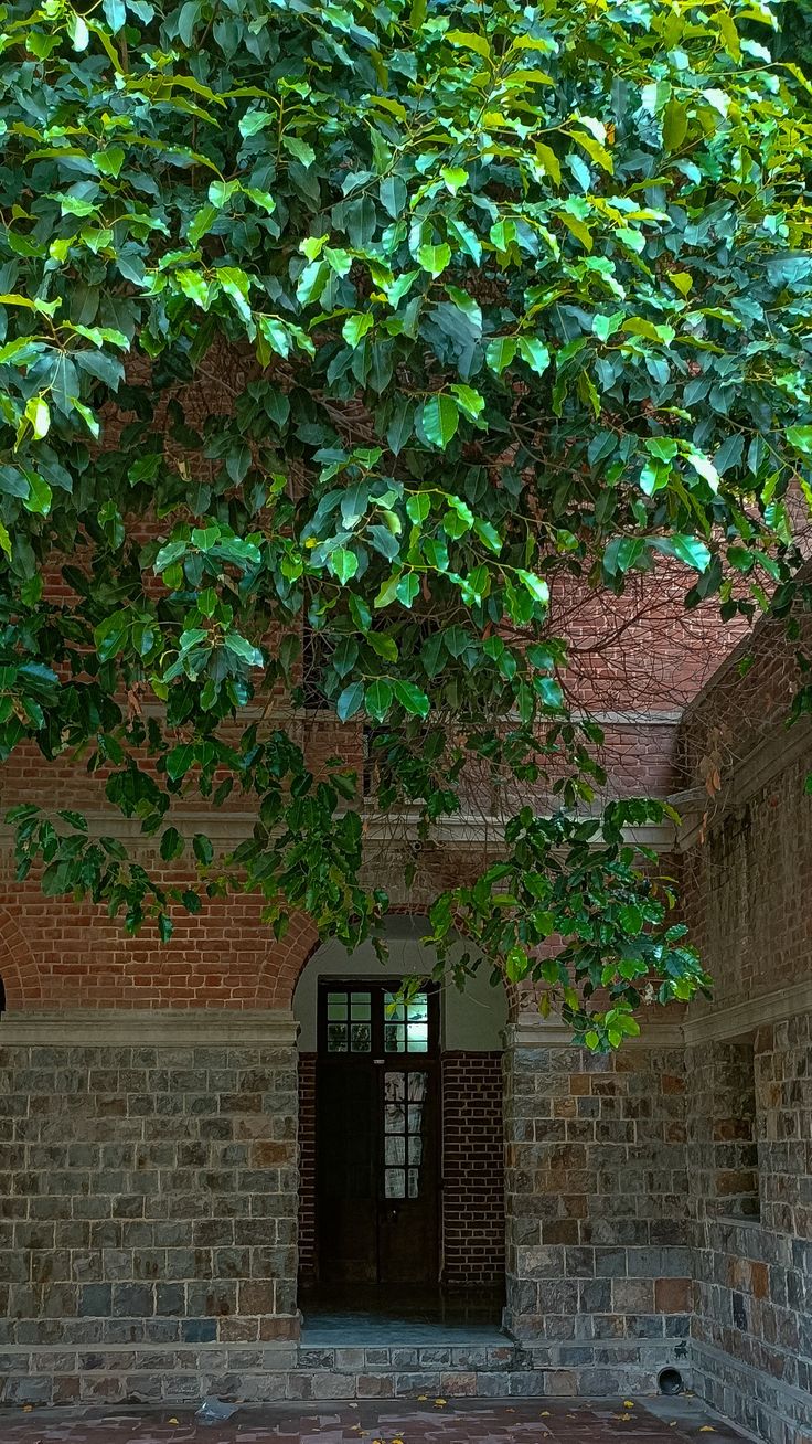
<svg viewBox="0 0 812 1444">
<path fill-rule="evenodd" d="M 369 874 L 394 901 L 385 970 L 304 918 L 274 943 L 252 898 L 179 917 L 166 946 L 128 939 L 16 884 L 6 853 L 6 1402 L 682 1380 L 770 1444 L 809 1435 L 812 739 L 783 728 L 792 654 L 762 627 L 743 680 L 734 654 L 705 682 L 718 651 L 701 632 L 610 632 L 600 674 L 584 648 L 584 705 L 614 791 L 687 800 L 681 835 L 646 842 L 681 875 L 715 976 L 712 1002 L 652 1018 L 612 1058 L 486 979 L 391 1011 L 397 979 L 431 966 L 425 902 L 487 846 L 473 812 L 408 890 L 407 833 L 369 819 Z M 335 748 L 317 718 L 301 729 L 313 758 Z M 6 806 L 42 793 L 36 757 L 7 773 Z M 144 848 L 98 778 L 50 767 L 46 786 Z M 206 830 L 226 849 L 250 823 Z M 352 1298 L 376 1301 L 376 1336 Z"/>
</svg>

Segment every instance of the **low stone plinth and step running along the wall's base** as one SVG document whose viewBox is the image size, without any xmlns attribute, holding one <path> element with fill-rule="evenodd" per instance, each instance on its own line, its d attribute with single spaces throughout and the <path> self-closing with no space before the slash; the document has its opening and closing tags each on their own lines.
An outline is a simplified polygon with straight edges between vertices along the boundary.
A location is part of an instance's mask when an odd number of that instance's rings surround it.
<svg viewBox="0 0 812 1444">
<path fill-rule="evenodd" d="M 3 1404 L 190 1404 L 206 1395 L 274 1399 L 574 1398 L 652 1395 L 666 1366 L 688 1378 L 685 1346 L 451 1344 L 121 1346 L 6 1349 Z M 440 1401 L 440 1402 L 437 1402 Z"/>
</svg>

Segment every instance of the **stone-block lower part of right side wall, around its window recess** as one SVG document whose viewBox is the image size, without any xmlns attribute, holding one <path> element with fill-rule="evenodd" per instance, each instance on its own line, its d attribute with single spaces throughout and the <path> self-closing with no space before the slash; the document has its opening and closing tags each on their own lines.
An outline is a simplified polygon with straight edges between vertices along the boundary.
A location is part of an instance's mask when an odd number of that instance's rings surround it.
<svg viewBox="0 0 812 1444">
<path fill-rule="evenodd" d="M 705 1054 L 705 1047 L 688 1054 L 689 1116 L 701 1121 Z M 720 1217 L 712 1173 L 689 1174 L 697 1385 L 711 1404 L 773 1444 L 799 1441 L 812 1430 L 811 1061 L 812 1015 L 756 1032 L 760 1222 Z"/>
</svg>

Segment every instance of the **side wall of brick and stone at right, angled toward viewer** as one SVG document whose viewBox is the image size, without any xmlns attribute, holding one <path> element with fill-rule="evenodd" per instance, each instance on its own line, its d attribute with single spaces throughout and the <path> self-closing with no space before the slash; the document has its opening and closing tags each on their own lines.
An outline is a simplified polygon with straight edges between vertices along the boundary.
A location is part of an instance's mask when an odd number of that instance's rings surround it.
<svg viewBox="0 0 812 1444">
<path fill-rule="evenodd" d="M 806 631 L 808 631 L 808 624 Z M 694 1386 L 772 1444 L 812 1432 L 812 736 L 762 625 L 689 709 L 687 781 L 707 786 L 685 915 L 714 978 L 685 1022 L 695 1274 Z M 714 771 L 708 773 L 708 767 Z"/>
</svg>

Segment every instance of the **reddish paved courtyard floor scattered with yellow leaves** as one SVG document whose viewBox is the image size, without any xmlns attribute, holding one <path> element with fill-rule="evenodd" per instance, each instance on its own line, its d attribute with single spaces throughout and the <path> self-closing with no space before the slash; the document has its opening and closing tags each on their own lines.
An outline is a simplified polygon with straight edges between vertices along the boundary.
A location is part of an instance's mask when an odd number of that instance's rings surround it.
<svg viewBox="0 0 812 1444">
<path fill-rule="evenodd" d="M 715 1440 L 710 1435 L 715 1435 Z M 707 1440 L 705 1440 L 707 1437 Z M 741 1435 L 691 1396 L 633 1401 L 463 1399 L 189 1409 L 4 1409 L 3 1444 L 721 1444 Z"/>
</svg>

